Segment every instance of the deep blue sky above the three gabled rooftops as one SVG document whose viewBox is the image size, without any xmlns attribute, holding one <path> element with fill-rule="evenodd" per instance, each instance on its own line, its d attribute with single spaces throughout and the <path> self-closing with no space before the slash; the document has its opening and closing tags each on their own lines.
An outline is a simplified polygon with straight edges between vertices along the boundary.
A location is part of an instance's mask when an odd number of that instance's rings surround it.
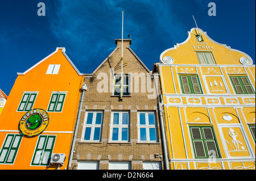
<svg viewBox="0 0 256 181">
<path fill-rule="evenodd" d="M 38 3 L 46 16 L 38 16 Z M 216 3 L 216 16 L 208 3 Z M 3 0 L 0 2 L 0 88 L 9 95 L 17 77 L 65 47 L 81 73 L 92 73 L 124 33 L 131 49 L 152 70 L 160 54 L 199 28 L 218 43 L 241 50 L 255 64 L 255 0 Z"/>
</svg>

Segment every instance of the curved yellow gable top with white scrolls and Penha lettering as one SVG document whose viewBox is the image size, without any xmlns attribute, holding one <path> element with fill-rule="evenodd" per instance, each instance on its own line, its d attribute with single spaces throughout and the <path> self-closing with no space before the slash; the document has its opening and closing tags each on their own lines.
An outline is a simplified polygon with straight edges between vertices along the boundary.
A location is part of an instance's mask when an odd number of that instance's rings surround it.
<svg viewBox="0 0 256 181">
<path fill-rule="evenodd" d="M 218 65 L 251 65 L 251 57 L 226 44 L 217 43 L 211 39 L 207 32 L 200 28 L 192 28 L 187 33 L 188 37 L 183 43 L 177 43 L 173 48 L 164 50 L 160 54 L 162 64 L 200 64 L 197 52 L 211 52 Z M 203 41 L 198 41 L 196 36 L 201 36 Z"/>
</svg>

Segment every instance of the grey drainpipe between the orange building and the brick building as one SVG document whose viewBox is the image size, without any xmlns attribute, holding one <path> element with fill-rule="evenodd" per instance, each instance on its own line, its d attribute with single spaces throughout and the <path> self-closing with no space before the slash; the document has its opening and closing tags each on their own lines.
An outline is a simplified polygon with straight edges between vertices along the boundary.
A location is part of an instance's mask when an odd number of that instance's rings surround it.
<svg viewBox="0 0 256 181">
<path fill-rule="evenodd" d="M 86 84 L 82 85 L 81 90 L 82 90 L 82 96 L 80 99 L 79 112 L 78 112 L 77 121 L 76 121 L 75 133 L 74 133 L 73 140 L 72 140 L 71 152 L 69 154 L 70 156 L 69 156 L 69 162 L 68 162 L 68 169 L 71 167 L 71 162 L 72 162 L 72 158 L 73 158 L 73 153 L 74 153 L 74 148 L 75 148 L 75 143 L 76 143 L 76 135 L 77 135 L 77 130 L 78 130 L 79 123 L 80 123 L 82 103 L 84 102 L 84 92 L 87 90 Z"/>
</svg>

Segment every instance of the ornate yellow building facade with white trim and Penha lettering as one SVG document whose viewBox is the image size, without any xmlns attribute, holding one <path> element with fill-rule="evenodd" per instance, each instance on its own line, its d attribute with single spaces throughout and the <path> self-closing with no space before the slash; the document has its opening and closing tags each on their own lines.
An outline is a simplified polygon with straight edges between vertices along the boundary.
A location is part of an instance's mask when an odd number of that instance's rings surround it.
<svg viewBox="0 0 256 181">
<path fill-rule="evenodd" d="M 255 169 L 255 65 L 192 28 L 160 55 L 171 169 Z"/>
</svg>

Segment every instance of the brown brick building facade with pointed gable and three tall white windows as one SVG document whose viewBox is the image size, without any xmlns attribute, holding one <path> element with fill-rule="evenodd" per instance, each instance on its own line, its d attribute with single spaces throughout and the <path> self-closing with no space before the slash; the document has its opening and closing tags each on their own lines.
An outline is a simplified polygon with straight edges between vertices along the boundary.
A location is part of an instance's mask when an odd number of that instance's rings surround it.
<svg viewBox="0 0 256 181">
<path fill-rule="evenodd" d="M 92 73 L 85 91 L 69 169 L 164 169 L 162 134 L 151 71 L 123 40 L 123 84 L 120 100 L 121 47 Z M 164 118 L 163 118 L 164 119 Z M 168 158 L 167 158 L 168 159 Z"/>
</svg>

